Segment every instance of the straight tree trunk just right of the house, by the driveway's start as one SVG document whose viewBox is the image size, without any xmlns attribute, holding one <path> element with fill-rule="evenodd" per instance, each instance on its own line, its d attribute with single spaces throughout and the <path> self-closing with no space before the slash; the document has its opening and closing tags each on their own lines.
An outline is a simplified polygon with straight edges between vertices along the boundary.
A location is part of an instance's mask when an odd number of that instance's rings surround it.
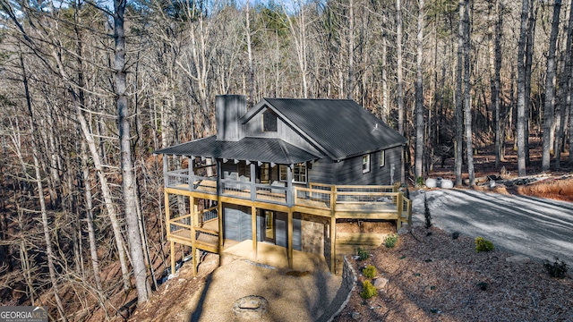
<svg viewBox="0 0 573 322">
<path fill-rule="evenodd" d="M 423 0 L 418 0 L 415 75 L 415 178 L 423 177 Z"/>
</svg>

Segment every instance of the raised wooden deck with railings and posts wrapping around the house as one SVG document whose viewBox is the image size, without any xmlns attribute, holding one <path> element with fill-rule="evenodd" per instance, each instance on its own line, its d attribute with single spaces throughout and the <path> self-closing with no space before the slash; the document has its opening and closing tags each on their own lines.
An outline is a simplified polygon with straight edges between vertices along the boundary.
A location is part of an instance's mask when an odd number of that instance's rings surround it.
<svg viewBox="0 0 573 322">
<path fill-rule="evenodd" d="M 411 201 L 398 191 L 398 186 L 335 186 L 320 183 L 310 183 L 309 186 L 309 188 L 295 186 L 292 190 L 288 190 L 284 187 L 226 181 L 218 188 L 216 181 L 202 180 L 193 182 L 192 187 L 184 182 L 166 187 L 167 241 L 171 242 L 172 254 L 174 242 L 190 246 L 193 251 L 205 250 L 219 254 L 227 251 L 223 249 L 224 241 L 219 234 L 222 229 L 219 213 L 222 212 L 223 203 L 286 212 L 291 218 L 289 225 L 292 225 L 292 216 L 295 212 L 329 217 L 330 233 L 336 236 L 336 242 L 332 243 L 329 252 L 334 254 L 330 258 L 330 267 L 333 270 L 341 263 L 338 255 L 353 254 L 358 245 L 366 246 L 373 245 L 373 243 L 380 245 L 382 242 L 380 238 L 366 234 L 361 234 L 362 237 L 338 235 L 335 232 L 337 219 L 396 220 L 398 229 L 403 222 L 411 220 Z M 252 191 L 252 188 L 255 190 Z M 194 210 L 188 215 L 172 217 L 169 209 L 169 195 L 189 197 Z M 218 206 L 197 211 L 197 199 L 216 200 Z M 256 231 L 254 221 L 252 225 L 253 231 Z M 292 236 L 292 226 L 290 229 L 288 236 Z M 292 242 L 290 244 L 292 245 Z M 265 243 L 252 241 L 249 245 L 251 254 L 253 251 L 259 254 L 260 245 L 262 248 L 268 246 Z M 292 246 L 289 248 L 274 247 L 286 253 L 286 260 L 292 267 L 295 262 L 295 250 Z M 241 253 L 241 256 L 245 255 Z M 175 258 L 175 256 L 172 257 Z M 254 258 L 258 258 L 258 255 Z M 175 264 L 173 265 L 175 267 Z M 196 268 L 196 264 L 193 264 L 193 267 Z"/>
</svg>

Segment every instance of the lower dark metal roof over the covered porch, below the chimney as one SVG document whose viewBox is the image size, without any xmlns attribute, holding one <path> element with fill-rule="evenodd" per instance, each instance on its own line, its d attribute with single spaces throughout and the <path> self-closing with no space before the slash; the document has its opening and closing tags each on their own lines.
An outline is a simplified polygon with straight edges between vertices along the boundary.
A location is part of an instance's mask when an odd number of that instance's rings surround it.
<svg viewBox="0 0 573 322">
<path fill-rule="evenodd" d="M 272 162 L 278 165 L 292 165 L 321 158 L 280 139 L 244 138 L 238 141 L 223 141 L 216 140 L 216 138 L 216 136 L 210 136 L 192 140 L 173 147 L 158 149 L 153 153 Z"/>
</svg>

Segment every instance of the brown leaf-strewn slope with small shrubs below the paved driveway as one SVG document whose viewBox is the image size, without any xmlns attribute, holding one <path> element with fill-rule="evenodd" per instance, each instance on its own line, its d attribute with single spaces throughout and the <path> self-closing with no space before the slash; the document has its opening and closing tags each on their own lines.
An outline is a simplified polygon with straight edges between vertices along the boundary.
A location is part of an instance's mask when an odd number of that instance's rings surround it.
<svg viewBox="0 0 573 322">
<path fill-rule="evenodd" d="M 432 232 L 427 236 L 427 232 Z M 380 247 L 356 271 L 374 265 L 388 278 L 383 292 L 363 300 L 363 276 L 336 321 L 571 321 L 573 282 L 550 277 L 540 262 L 506 261 L 507 252 L 475 251 L 475 240 L 415 227 L 394 249 Z M 419 241 L 418 241 L 419 240 Z M 483 291 L 480 283 L 487 284 Z M 351 318 L 352 313 L 359 315 Z"/>
</svg>

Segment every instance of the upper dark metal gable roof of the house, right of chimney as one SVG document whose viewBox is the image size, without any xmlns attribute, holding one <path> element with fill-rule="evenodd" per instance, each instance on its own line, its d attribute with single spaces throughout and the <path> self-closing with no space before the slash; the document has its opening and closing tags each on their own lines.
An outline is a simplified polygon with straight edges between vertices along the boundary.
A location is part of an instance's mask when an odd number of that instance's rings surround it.
<svg viewBox="0 0 573 322">
<path fill-rule="evenodd" d="M 353 100 L 264 98 L 264 101 L 333 159 L 392 148 L 407 141 Z M 252 117 L 252 112 L 244 116 L 244 122 Z"/>
</svg>

